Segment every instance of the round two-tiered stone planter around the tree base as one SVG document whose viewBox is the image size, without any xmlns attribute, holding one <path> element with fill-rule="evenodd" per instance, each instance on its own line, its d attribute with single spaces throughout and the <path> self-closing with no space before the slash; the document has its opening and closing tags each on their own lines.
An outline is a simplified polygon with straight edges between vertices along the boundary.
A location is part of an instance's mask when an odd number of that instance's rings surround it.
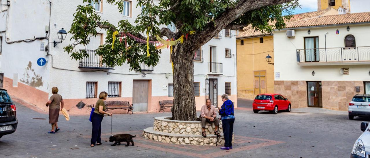
<svg viewBox="0 0 370 158">
<path fill-rule="evenodd" d="M 177 121 L 171 120 L 171 117 L 155 117 L 154 126 L 148 127 L 143 131 L 143 137 L 149 140 L 191 145 L 215 145 L 217 141 L 214 135 L 214 124 L 206 124 L 207 137 L 203 137 L 201 121 Z M 222 133 L 222 121 L 220 120 L 219 131 L 221 137 L 218 138 L 218 144 L 224 144 Z M 234 135 L 232 138 L 234 142 Z"/>
</svg>

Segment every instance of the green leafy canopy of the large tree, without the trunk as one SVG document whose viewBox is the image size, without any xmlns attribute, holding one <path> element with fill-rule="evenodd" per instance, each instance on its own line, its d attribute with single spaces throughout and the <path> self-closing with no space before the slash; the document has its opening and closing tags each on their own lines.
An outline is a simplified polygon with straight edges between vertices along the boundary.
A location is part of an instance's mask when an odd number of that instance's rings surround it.
<svg viewBox="0 0 370 158">
<path fill-rule="evenodd" d="M 242 30 L 247 25 L 251 25 L 256 31 L 272 32 L 273 29 L 285 27 L 285 21 L 292 17 L 289 12 L 286 16 L 283 16 L 282 12 L 298 6 L 297 2 L 292 0 L 138 0 L 136 7 L 144 7 L 135 20 L 136 25 L 133 25 L 127 20 L 111 24 L 102 19 L 90 5 L 98 1 L 100 0 L 83 0 L 88 4 L 77 6 L 69 31 L 73 35 L 71 40 L 74 40 L 74 43 L 64 50 L 71 54 L 73 59 L 88 56 L 86 51 L 76 50 L 75 46 L 87 45 L 90 37 L 98 34 L 97 28 L 102 28 L 107 31 L 105 44 L 97 49 L 97 54 L 102 56 L 102 62 L 108 66 L 121 66 L 127 63 L 130 65 L 130 71 L 141 71 L 139 63 L 148 66 L 157 65 L 161 51 L 150 45 L 151 56 L 147 57 L 146 45 L 130 38 L 127 38 L 127 44 L 131 46 L 129 49 L 125 48 L 124 42 L 115 42 L 114 49 L 111 49 L 114 31 L 130 32 L 144 40 L 148 31 L 152 35 L 150 39 L 154 41 L 156 40 L 154 35 L 177 39 L 189 31 L 196 31 L 194 35 L 196 38 L 203 34 L 212 37 L 215 35 L 214 32 L 217 33 L 223 28 Z M 124 11 L 123 2 L 123 0 L 106 1 L 117 6 L 120 13 Z M 271 23 L 272 21 L 275 23 Z M 179 31 L 173 33 L 167 28 L 160 28 L 168 24 L 175 24 Z M 202 41 L 202 44 L 208 41 Z"/>
</svg>

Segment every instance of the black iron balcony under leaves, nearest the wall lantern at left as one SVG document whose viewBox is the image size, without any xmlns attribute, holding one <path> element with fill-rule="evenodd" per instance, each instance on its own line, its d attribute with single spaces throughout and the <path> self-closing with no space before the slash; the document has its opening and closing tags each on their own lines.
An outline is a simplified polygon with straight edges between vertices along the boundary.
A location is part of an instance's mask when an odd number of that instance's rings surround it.
<svg viewBox="0 0 370 158">
<path fill-rule="evenodd" d="M 85 49 L 80 49 L 83 51 Z M 97 55 L 95 50 L 85 50 L 88 54 L 88 57 L 84 57 L 78 62 L 78 68 L 87 68 L 87 69 L 114 69 L 107 64 L 102 63 L 102 56 Z"/>
</svg>

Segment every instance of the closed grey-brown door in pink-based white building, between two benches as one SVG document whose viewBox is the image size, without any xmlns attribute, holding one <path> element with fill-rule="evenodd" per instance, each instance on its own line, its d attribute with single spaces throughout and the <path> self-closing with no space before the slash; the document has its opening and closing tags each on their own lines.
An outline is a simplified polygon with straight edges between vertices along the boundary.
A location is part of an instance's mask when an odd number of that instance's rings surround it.
<svg viewBox="0 0 370 158">
<path fill-rule="evenodd" d="M 148 111 L 148 80 L 134 80 L 132 86 L 132 104 L 134 112 Z"/>
</svg>

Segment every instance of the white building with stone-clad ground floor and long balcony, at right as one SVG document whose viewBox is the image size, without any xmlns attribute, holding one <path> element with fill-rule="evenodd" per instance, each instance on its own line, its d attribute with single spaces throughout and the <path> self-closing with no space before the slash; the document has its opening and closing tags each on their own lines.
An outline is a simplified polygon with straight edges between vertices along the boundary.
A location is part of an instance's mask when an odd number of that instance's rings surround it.
<svg viewBox="0 0 370 158">
<path fill-rule="evenodd" d="M 292 107 L 348 110 L 370 94 L 370 13 L 320 16 L 274 33 L 275 92 Z"/>
</svg>

